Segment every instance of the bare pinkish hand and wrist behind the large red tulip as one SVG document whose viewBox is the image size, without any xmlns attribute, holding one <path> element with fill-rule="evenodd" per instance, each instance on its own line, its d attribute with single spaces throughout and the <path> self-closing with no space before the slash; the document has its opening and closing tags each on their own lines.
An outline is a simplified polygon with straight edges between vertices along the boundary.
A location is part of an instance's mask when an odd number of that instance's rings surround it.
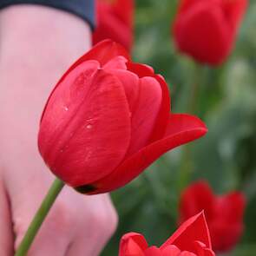
<svg viewBox="0 0 256 256">
<path fill-rule="evenodd" d="M 62 10 L 15 5 L 0 11 L 0 255 L 13 255 L 54 176 L 37 150 L 50 90 L 90 48 L 89 25 Z M 108 194 L 64 187 L 29 256 L 94 256 L 114 233 Z"/>
</svg>

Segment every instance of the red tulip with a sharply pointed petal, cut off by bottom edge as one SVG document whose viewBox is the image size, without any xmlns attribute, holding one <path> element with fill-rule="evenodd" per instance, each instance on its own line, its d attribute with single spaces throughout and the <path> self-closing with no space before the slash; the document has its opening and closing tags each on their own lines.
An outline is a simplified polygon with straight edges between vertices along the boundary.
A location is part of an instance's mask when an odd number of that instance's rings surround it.
<svg viewBox="0 0 256 256">
<path fill-rule="evenodd" d="M 184 222 L 160 247 L 148 246 L 140 233 L 121 238 L 119 256 L 214 256 L 207 222 L 199 213 Z"/>
</svg>

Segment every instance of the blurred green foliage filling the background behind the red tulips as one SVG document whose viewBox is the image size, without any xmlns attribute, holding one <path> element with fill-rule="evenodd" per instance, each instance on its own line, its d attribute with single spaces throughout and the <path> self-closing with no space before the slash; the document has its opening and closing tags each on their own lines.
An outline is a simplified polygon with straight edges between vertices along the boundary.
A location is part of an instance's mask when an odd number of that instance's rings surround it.
<svg viewBox="0 0 256 256">
<path fill-rule="evenodd" d="M 184 187 L 207 179 L 215 193 L 246 194 L 246 229 L 232 256 L 256 255 L 256 1 L 250 2 L 233 53 L 217 69 L 181 56 L 170 37 L 177 0 L 137 0 L 135 62 L 153 66 L 171 90 L 174 112 L 200 116 L 207 136 L 165 154 L 128 186 L 112 194 L 119 226 L 103 256 L 118 255 L 122 234 L 143 233 L 161 245 L 176 229 L 177 204 Z M 198 97 L 191 108 L 194 82 Z M 191 161 L 184 161 L 189 151 Z"/>
</svg>

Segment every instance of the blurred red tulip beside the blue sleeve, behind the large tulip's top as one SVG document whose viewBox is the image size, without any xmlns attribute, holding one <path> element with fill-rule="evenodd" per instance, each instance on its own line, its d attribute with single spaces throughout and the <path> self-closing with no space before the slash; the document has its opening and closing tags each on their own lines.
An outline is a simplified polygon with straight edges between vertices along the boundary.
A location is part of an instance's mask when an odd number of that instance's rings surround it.
<svg viewBox="0 0 256 256">
<path fill-rule="evenodd" d="M 130 51 L 134 37 L 134 0 L 97 0 L 96 4 L 93 43 L 109 38 Z"/>
</svg>

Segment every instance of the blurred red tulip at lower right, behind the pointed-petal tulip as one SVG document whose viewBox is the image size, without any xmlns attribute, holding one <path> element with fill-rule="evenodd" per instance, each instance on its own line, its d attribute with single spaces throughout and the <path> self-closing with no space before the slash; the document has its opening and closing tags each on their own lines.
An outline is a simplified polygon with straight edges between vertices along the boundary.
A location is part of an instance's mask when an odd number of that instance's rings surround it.
<svg viewBox="0 0 256 256">
<path fill-rule="evenodd" d="M 199 181 L 187 187 L 181 196 L 180 223 L 204 210 L 213 250 L 223 252 L 232 249 L 240 240 L 244 209 L 243 194 L 233 192 L 215 196 L 207 182 Z"/>
</svg>

